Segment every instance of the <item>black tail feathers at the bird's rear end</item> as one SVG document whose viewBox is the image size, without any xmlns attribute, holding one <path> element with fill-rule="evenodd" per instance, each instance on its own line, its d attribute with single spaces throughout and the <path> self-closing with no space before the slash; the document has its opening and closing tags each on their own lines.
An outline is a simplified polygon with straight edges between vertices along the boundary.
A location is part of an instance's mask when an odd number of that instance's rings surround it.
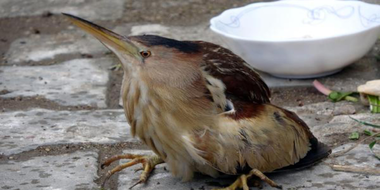
<svg viewBox="0 0 380 190">
<path fill-rule="evenodd" d="M 328 157 L 328 155 L 330 154 L 331 154 L 331 149 L 326 144 L 323 144 L 322 142 L 318 142 L 318 141 L 314 143 L 312 142 L 312 149 L 309 152 L 307 152 L 304 158 L 299 160 L 294 165 L 276 169 L 273 172 L 306 168 L 306 167 L 314 165 L 315 163 L 322 160 L 323 158 Z"/>
</svg>

